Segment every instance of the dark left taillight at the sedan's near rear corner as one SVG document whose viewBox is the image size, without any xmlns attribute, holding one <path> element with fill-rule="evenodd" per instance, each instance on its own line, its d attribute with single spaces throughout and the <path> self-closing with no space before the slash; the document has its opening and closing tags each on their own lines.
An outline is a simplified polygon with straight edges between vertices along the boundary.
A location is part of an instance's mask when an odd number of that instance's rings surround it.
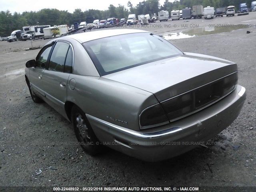
<svg viewBox="0 0 256 192">
<path fill-rule="evenodd" d="M 146 108 L 140 114 L 141 129 L 160 126 L 167 123 L 169 123 L 169 120 L 160 104 Z"/>
</svg>

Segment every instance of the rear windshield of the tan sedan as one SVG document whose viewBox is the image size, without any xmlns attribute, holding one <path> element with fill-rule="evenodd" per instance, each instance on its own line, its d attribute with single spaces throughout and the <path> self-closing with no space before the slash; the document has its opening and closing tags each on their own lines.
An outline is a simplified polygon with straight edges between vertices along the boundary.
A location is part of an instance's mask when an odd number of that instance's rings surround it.
<svg viewBox="0 0 256 192">
<path fill-rule="evenodd" d="M 92 40 L 84 47 L 101 76 L 182 55 L 170 42 L 148 32 Z"/>
</svg>

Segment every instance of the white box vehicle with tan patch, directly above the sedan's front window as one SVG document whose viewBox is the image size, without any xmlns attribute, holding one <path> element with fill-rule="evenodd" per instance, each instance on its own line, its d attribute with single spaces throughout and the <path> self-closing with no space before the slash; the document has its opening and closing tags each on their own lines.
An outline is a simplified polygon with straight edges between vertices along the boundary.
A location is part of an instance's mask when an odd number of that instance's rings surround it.
<svg viewBox="0 0 256 192">
<path fill-rule="evenodd" d="M 68 32 L 67 25 L 59 25 L 54 27 L 47 27 L 43 29 L 44 39 L 60 37 Z"/>
</svg>

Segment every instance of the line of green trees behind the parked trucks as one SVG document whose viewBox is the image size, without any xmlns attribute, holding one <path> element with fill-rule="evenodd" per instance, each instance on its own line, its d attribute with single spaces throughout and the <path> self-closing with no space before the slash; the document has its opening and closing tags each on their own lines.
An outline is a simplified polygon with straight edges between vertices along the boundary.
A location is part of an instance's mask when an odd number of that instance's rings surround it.
<svg viewBox="0 0 256 192">
<path fill-rule="evenodd" d="M 246 2 L 249 7 L 252 1 L 253 0 L 174 0 L 174 2 L 170 2 L 166 0 L 163 5 L 160 5 L 159 0 L 144 0 L 135 6 L 128 1 L 128 9 L 121 4 L 118 6 L 110 4 L 108 10 L 89 9 L 83 12 L 78 8 L 74 10 L 73 13 L 67 10 L 42 9 L 38 12 L 14 12 L 14 14 L 12 14 L 9 10 L 6 10 L 0 12 L 0 36 L 9 36 L 14 30 L 22 30 L 23 26 L 46 24 L 50 24 L 51 26 L 68 24 L 70 26 L 75 22 L 80 23 L 86 21 L 87 23 L 92 23 L 93 20 L 103 20 L 110 17 L 127 19 L 128 14 L 157 14 L 160 10 L 168 10 L 171 12 L 174 9 L 181 10 L 186 7 L 192 8 L 193 5 L 197 4 L 201 4 L 204 7 L 213 6 L 214 8 L 234 5 L 238 8 L 240 3 Z"/>
</svg>

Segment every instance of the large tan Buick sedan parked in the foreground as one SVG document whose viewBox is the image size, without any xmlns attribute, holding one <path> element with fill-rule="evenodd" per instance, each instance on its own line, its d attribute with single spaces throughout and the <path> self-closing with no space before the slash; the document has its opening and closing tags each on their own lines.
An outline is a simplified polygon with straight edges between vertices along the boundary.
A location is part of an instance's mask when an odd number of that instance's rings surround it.
<svg viewBox="0 0 256 192">
<path fill-rule="evenodd" d="M 213 138 L 246 98 L 236 63 L 184 53 L 134 29 L 51 40 L 26 62 L 25 80 L 34 102 L 47 102 L 72 122 L 87 153 L 97 154 L 103 144 L 145 161 Z"/>
</svg>

